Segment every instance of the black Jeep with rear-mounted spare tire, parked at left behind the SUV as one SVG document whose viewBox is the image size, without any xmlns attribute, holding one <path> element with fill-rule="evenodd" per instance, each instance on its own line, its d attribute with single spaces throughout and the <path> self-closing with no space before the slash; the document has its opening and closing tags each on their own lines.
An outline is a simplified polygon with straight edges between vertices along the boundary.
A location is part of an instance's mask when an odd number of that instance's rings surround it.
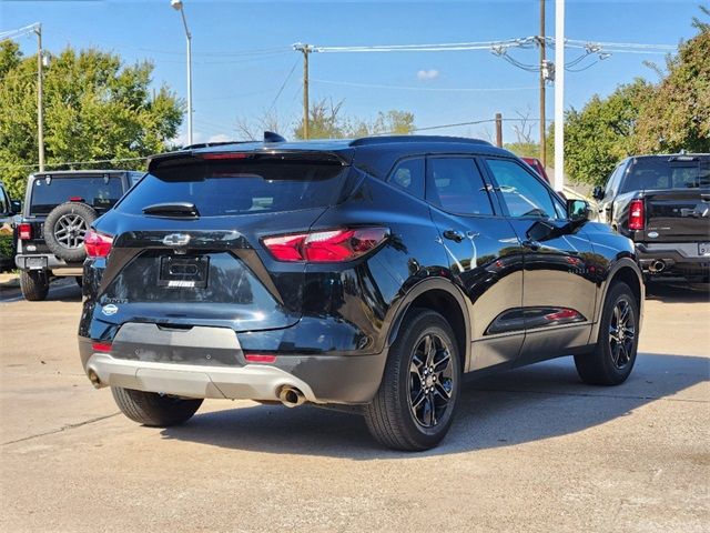
<svg viewBox="0 0 710 533">
<path fill-rule="evenodd" d="M 30 175 L 16 257 L 27 300 L 44 300 L 52 276 L 75 276 L 81 282 L 85 232 L 143 174 L 84 170 Z"/>
</svg>

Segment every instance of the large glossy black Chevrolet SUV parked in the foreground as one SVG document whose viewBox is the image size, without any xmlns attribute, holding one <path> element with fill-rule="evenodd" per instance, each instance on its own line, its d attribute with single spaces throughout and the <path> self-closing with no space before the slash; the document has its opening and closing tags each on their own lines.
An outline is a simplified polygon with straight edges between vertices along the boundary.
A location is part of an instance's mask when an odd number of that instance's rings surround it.
<svg viewBox="0 0 710 533">
<path fill-rule="evenodd" d="M 470 139 L 156 155 L 87 238 L 81 360 L 146 425 L 205 398 L 347 404 L 383 444 L 428 449 L 464 372 L 631 372 L 641 271 L 587 209 Z"/>
</svg>

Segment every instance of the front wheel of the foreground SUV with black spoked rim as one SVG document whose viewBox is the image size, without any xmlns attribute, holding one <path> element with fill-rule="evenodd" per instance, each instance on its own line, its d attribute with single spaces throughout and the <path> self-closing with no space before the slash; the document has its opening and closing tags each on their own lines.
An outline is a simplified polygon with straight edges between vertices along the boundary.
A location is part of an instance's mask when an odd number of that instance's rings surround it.
<svg viewBox="0 0 710 533">
<path fill-rule="evenodd" d="M 575 355 L 579 378 L 591 385 L 623 383 L 636 362 L 638 324 L 639 306 L 633 291 L 623 282 L 615 283 L 604 304 L 597 344 L 590 353 Z"/>
</svg>

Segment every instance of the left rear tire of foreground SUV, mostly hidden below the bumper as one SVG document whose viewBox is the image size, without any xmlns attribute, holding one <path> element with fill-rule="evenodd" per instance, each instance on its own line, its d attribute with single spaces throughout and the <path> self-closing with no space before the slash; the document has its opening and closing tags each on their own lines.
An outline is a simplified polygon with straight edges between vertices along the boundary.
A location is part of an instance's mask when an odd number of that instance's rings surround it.
<svg viewBox="0 0 710 533">
<path fill-rule="evenodd" d="M 192 418 L 202 405 L 201 399 L 183 399 L 156 392 L 112 386 L 113 399 L 123 414 L 151 428 L 169 428 Z"/>
</svg>

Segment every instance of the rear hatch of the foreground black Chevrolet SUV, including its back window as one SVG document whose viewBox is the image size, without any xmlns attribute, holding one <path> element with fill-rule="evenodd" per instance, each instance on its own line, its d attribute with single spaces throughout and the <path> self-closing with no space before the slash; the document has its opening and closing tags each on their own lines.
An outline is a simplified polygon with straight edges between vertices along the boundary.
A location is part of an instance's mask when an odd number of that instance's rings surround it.
<svg viewBox="0 0 710 533">
<path fill-rule="evenodd" d="M 346 178 L 333 157 L 163 162 L 97 225 L 114 237 L 97 316 L 236 331 L 296 323 L 305 266 L 275 261 L 261 240 L 307 231 Z"/>
</svg>

